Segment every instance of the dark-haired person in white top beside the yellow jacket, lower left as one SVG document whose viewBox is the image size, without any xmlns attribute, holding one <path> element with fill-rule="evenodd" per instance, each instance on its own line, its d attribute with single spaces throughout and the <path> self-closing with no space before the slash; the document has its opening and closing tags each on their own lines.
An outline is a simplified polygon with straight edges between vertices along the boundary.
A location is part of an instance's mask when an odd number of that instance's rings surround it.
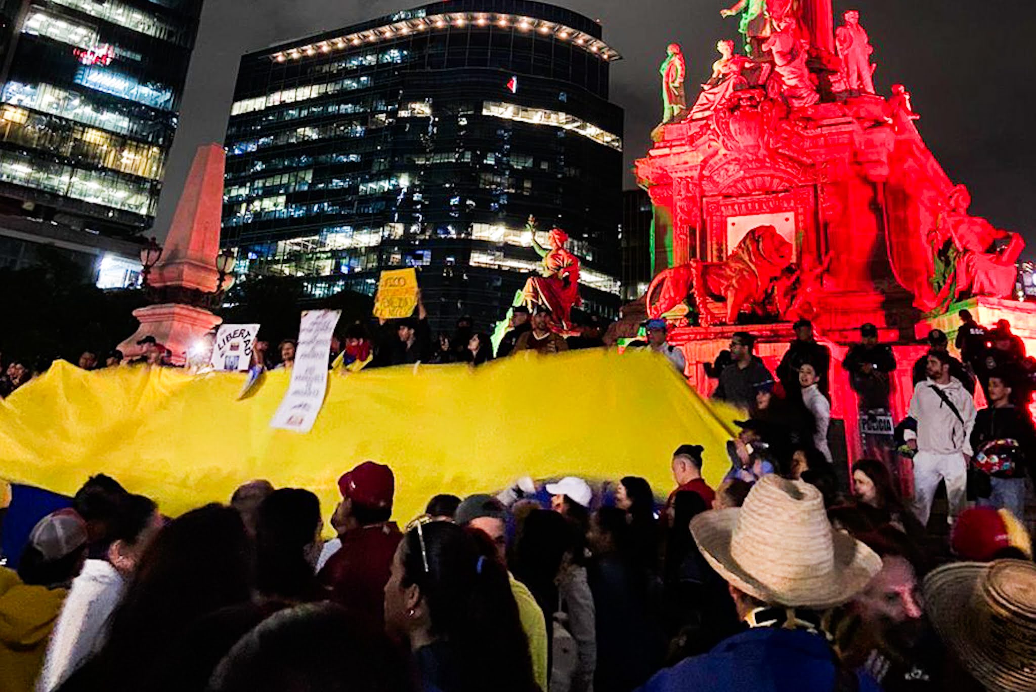
<svg viewBox="0 0 1036 692">
<path fill-rule="evenodd" d="M 107 559 L 88 559 L 73 580 L 51 635 L 36 692 L 56 689 L 104 644 L 126 580 L 161 525 L 162 518 L 149 498 L 126 494 L 117 500 L 100 538 L 108 544 Z"/>
</svg>

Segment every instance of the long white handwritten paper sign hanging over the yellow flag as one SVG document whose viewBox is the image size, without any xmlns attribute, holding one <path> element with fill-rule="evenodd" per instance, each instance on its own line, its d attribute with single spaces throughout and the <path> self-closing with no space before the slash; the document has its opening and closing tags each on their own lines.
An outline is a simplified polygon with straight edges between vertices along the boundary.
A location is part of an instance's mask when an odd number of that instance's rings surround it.
<svg viewBox="0 0 1036 692">
<path fill-rule="evenodd" d="M 327 392 L 327 358 L 330 337 L 341 310 L 307 310 L 298 327 L 298 345 L 291 382 L 270 427 L 309 433 L 317 421 Z"/>
</svg>

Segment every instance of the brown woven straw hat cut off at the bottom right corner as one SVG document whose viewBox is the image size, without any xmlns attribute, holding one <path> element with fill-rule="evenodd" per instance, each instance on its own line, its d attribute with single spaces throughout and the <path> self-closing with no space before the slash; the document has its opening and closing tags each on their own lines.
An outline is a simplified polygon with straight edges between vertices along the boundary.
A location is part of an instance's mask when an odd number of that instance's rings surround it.
<svg viewBox="0 0 1036 692">
<path fill-rule="evenodd" d="M 954 562 L 924 580 L 939 636 L 986 690 L 1036 690 L 1036 564 Z"/>
</svg>

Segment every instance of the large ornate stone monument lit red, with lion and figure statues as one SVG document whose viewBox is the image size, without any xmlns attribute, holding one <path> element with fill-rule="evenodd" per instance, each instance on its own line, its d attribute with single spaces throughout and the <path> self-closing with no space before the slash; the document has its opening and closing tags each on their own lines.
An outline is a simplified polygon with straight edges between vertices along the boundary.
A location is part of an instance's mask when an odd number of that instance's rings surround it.
<svg viewBox="0 0 1036 692">
<path fill-rule="evenodd" d="M 871 323 L 901 364 L 898 419 L 919 338 L 938 326 L 952 342 L 958 307 L 1036 337 L 1036 311 L 1009 300 L 1021 238 L 968 214 L 903 85 L 874 92 L 859 12 L 837 28 L 831 0 L 740 0 L 722 15 L 740 16 L 745 53 L 720 41 L 694 105 L 636 162 L 655 210 L 656 278 L 628 312 L 670 322 L 691 383 L 709 392 L 704 364 L 736 330 L 756 334 L 773 371 L 797 319 L 813 321 L 836 360 Z M 837 363 L 831 377 L 834 415 L 858 448 L 855 394 Z"/>
</svg>

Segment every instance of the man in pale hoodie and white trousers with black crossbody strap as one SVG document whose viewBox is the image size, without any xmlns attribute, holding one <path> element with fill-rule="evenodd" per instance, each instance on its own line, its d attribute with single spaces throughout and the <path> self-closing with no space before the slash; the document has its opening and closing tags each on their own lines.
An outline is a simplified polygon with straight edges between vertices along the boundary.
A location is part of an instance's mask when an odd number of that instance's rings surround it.
<svg viewBox="0 0 1036 692">
<path fill-rule="evenodd" d="M 946 482 L 950 521 L 965 508 L 968 465 L 971 463 L 971 432 L 975 426 L 975 400 L 956 378 L 950 377 L 952 359 L 944 351 L 929 351 L 927 380 L 914 388 L 911 418 L 917 433 L 904 437 L 914 456 L 914 514 L 928 523 L 931 500 L 940 479 Z"/>
</svg>

